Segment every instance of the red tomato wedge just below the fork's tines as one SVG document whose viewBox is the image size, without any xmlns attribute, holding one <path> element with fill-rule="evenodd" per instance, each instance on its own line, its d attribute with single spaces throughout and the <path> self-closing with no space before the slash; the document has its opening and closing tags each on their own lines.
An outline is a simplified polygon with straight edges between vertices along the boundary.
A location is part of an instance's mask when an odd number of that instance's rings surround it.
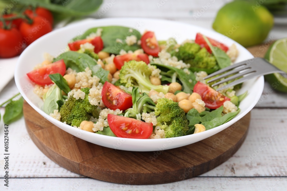
<svg viewBox="0 0 287 191">
<path fill-rule="evenodd" d="M 217 109 L 222 106 L 225 101 L 230 101 L 228 97 L 225 97 L 202 82 L 197 82 L 195 84 L 193 92 L 198 93 L 201 96 L 202 101 L 204 101 L 205 107 L 210 109 Z"/>
</svg>

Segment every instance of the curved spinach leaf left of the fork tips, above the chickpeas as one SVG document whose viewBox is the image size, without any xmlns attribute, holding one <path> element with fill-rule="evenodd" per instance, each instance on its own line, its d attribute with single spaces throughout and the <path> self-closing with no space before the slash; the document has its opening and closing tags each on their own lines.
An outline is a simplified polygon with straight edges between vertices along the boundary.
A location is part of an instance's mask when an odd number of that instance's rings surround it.
<svg viewBox="0 0 287 191">
<path fill-rule="evenodd" d="M 177 73 L 177 77 L 182 83 L 182 91 L 185 93 L 192 93 L 193 87 L 196 84 L 195 75 L 190 72 L 189 74 L 185 73 L 183 70 L 172 67 L 166 66 L 162 64 L 151 63 L 152 65 L 156 65 L 158 68 L 167 68 L 168 70 L 173 70 Z"/>
</svg>

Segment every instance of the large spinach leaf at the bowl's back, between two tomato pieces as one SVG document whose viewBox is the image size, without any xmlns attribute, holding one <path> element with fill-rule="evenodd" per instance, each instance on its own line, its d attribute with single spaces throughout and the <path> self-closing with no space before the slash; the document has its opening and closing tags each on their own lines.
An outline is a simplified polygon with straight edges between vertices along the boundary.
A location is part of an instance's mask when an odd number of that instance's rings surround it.
<svg viewBox="0 0 287 191">
<path fill-rule="evenodd" d="M 120 50 L 123 49 L 125 51 L 135 51 L 141 48 L 137 43 L 132 46 L 127 45 L 125 42 L 125 38 L 127 36 L 135 35 L 137 40 L 141 39 L 141 34 L 136 29 L 132 29 L 130 27 L 123 26 L 107 26 L 107 27 L 95 27 L 88 29 L 82 36 L 78 38 L 74 38 L 73 40 L 85 39 L 89 34 L 95 33 L 98 28 L 102 29 L 101 38 L 104 43 L 104 49 L 102 51 L 109 52 L 111 54 L 119 54 Z M 116 39 L 121 39 L 123 44 L 120 42 L 116 42 Z"/>
</svg>

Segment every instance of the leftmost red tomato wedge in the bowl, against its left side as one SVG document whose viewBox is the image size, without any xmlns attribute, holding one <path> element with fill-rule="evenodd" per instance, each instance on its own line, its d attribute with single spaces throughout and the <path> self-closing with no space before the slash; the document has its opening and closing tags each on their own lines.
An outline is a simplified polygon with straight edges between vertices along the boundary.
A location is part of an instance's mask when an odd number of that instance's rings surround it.
<svg viewBox="0 0 287 191">
<path fill-rule="evenodd" d="M 27 73 L 27 76 L 30 78 L 30 80 L 32 80 L 36 84 L 44 86 L 46 84 L 53 83 L 49 77 L 50 74 L 59 73 L 63 76 L 65 72 L 66 72 L 66 65 L 64 60 L 58 60 L 57 62 L 48 64 L 46 66 L 43 66 L 41 68 L 35 69 Z"/>
</svg>

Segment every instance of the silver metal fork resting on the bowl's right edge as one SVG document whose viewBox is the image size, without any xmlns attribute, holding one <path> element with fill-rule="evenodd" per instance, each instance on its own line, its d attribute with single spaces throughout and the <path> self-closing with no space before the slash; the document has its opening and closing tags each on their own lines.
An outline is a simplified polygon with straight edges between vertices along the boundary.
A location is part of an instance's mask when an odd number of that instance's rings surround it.
<svg viewBox="0 0 287 191">
<path fill-rule="evenodd" d="M 226 73 L 224 73 L 226 72 Z M 281 73 L 281 74 L 285 74 L 284 76 L 286 76 L 286 73 L 283 72 L 282 70 L 279 70 L 278 68 L 276 68 L 275 66 L 273 66 L 272 64 L 270 64 L 267 60 L 265 60 L 264 58 L 252 58 L 249 60 L 245 60 L 243 62 L 239 62 L 237 64 L 233 64 L 231 66 L 228 66 L 226 68 L 223 68 L 221 70 L 218 70 L 208 76 L 206 76 L 205 78 L 203 78 L 204 80 L 214 77 L 211 80 L 209 80 L 207 83 L 210 82 L 214 82 L 216 80 L 220 80 L 221 78 L 224 78 L 223 80 L 216 82 L 214 84 L 212 84 L 211 86 L 217 86 L 219 84 L 222 84 L 224 82 L 228 82 L 229 80 L 234 80 L 236 78 L 239 78 L 233 82 L 230 82 L 229 84 L 218 88 L 216 91 L 220 91 L 223 90 L 225 88 L 228 88 L 230 86 L 235 86 L 236 84 L 240 84 L 246 80 L 249 80 L 251 78 L 255 78 L 258 76 L 262 76 L 262 75 L 266 75 L 266 74 L 272 74 L 272 73 Z M 222 74 L 222 75 L 220 75 Z M 232 75 L 234 74 L 234 75 Z M 220 76 L 217 76 L 220 75 Z M 230 76 L 232 75 L 232 76 Z M 228 78 L 225 78 L 229 76 Z"/>
</svg>

